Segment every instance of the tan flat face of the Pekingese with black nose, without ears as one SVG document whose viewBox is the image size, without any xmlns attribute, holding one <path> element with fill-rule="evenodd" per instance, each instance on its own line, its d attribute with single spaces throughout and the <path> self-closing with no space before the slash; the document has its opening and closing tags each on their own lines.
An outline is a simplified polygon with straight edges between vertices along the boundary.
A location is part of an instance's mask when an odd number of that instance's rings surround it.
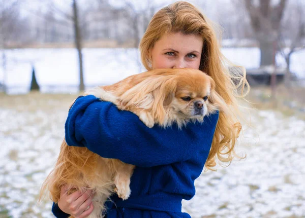
<svg viewBox="0 0 305 218">
<path fill-rule="evenodd" d="M 176 77 L 175 96 L 170 103 L 178 116 L 200 118 L 208 113 L 212 80 L 201 71 L 187 70 Z"/>
</svg>

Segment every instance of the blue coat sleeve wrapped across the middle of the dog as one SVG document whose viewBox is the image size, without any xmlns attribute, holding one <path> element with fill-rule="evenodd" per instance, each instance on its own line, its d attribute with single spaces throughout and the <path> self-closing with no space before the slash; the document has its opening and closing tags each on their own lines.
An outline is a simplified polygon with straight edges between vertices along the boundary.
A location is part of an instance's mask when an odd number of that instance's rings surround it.
<svg viewBox="0 0 305 218">
<path fill-rule="evenodd" d="M 218 113 L 212 114 L 203 123 L 190 123 L 182 129 L 175 124 L 166 129 L 158 125 L 148 128 L 135 114 L 88 95 L 79 97 L 70 108 L 65 136 L 69 146 L 85 146 L 104 158 L 153 167 L 209 151 L 218 117 Z"/>
</svg>

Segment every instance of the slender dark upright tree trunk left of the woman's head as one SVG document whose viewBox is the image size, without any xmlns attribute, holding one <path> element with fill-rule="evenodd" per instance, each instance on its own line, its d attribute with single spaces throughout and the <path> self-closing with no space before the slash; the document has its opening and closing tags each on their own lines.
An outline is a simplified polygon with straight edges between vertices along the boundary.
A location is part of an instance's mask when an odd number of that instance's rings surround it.
<svg viewBox="0 0 305 218">
<path fill-rule="evenodd" d="M 75 46 L 78 53 L 78 61 L 79 61 L 79 91 L 84 91 L 84 78 L 83 78 L 83 63 L 82 63 L 82 45 L 81 45 L 81 32 L 79 29 L 79 22 L 78 22 L 78 11 L 77 11 L 77 4 L 76 0 L 73 0 L 73 23 L 74 23 L 74 41 Z"/>
</svg>

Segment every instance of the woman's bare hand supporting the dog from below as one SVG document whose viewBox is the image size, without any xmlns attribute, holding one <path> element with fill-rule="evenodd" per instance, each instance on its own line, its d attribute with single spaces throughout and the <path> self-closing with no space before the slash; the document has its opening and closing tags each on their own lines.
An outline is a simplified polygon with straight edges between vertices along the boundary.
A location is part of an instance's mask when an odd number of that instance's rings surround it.
<svg viewBox="0 0 305 218">
<path fill-rule="evenodd" d="M 81 191 L 68 194 L 68 186 L 63 186 L 60 191 L 60 199 L 58 207 L 65 213 L 73 215 L 75 218 L 84 218 L 88 216 L 94 209 L 92 203 L 92 190 Z"/>
</svg>

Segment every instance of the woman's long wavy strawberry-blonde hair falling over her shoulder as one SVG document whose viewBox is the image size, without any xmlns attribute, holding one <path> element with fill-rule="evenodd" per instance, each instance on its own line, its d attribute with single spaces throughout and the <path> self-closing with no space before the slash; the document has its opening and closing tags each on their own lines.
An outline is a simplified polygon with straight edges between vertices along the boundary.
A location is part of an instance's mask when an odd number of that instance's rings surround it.
<svg viewBox="0 0 305 218">
<path fill-rule="evenodd" d="M 229 108 L 229 114 L 220 112 L 211 150 L 205 163 L 207 169 L 216 166 L 216 157 L 220 162 L 228 163 L 234 157 L 236 139 L 241 130 L 241 124 L 237 119 L 237 97 L 243 97 L 249 92 L 249 84 L 246 80 L 246 71 L 229 71 L 226 63 L 233 66 L 221 53 L 219 40 L 212 23 L 192 4 L 188 2 L 176 2 L 159 10 L 151 19 L 146 32 L 140 42 L 141 60 L 146 69 L 151 69 L 150 51 L 155 43 L 167 33 L 181 32 L 183 34 L 195 34 L 202 37 L 203 48 L 199 69 L 214 79 L 216 91 L 225 100 Z M 220 36 L 219 36 L 220 37 Z M 235 68 L 236 69 L 236 68 Z M 245 93 L 244 87 L 248 87 Z M 241 93 L 241 94 L 238 94 Z"/>
</svg>

